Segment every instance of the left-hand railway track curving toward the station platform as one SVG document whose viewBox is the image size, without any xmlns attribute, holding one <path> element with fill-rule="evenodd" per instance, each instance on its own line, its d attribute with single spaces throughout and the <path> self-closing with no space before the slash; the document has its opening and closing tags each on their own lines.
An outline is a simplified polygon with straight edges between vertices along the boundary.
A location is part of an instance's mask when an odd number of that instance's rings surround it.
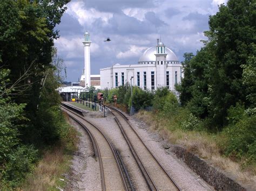
<svg viewBox="0 0 256 191">
<path fill-rule="evenodd" d="M 77 123 L 82 125 L 89 133 L 95 150 L 96 160 L 99 161 L 102 190 L 133 190 L 122 159 L 120 158 L 118 151 L 114 150 L 109 139 L 107 139 L 97 126 L 72 111 L 76 108 L 71 108 L 71 110 L 66 107 L 69 106 L 65 104 L 62 105 L 63 111 Z"/>
</svg>

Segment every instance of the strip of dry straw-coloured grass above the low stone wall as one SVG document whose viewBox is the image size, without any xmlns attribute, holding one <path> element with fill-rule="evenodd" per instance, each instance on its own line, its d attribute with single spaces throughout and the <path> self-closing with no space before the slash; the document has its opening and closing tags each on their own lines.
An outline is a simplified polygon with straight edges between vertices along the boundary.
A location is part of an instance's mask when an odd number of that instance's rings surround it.
<svg viewBox="0 0 256 191">
<path fill-rule="evenodd" d="M 239 163 L 234 162 L 230 158 L 221 155 L 216 141 L 217 138 L 214 136 L 206 132 L 173 129 L 168 120 L 156 121 L 152 112 L 149 111 L 140 111 L 136 114 L 136 117 L 146 123 L 152 131 L 158 132 L 165 140 L 169 140 L 172 144 L 185 146 L 187 150 L 198 154 L 212 165 L 223 169 L 238 181 L 245 185 L 252 185 L 256 189 L 255 169 L 247 168 L 242 170 L 242 161 Z"/>
</svg>

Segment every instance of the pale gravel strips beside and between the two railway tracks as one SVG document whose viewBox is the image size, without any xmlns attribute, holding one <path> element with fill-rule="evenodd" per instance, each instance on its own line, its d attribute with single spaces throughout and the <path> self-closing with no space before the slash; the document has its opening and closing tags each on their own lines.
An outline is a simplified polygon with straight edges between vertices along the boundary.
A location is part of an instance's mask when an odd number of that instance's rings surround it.
<svg viewBox="0 0 256 191">
<path fill-rule="evenodd" d="M 132 184 L 136 190 L 147 190 L 147 185 L 143 179 L 136 161 L 125 142 L 121 131 L 116 124 L 114 117 L 108 115 L 100 118 L 99 115 L 93 117 L 92 114 L 86 115 L 93 124 L 97 125 L 112 144 L 120 152 L 124 164 L 129 172 Z M 212 190 L 203 180 L 191 171 L 183 162 L 177 159 L 172 153 L 169 153 L 163 147 L 163 142 L 156 133 L 148 132 L 143 123 L 130 118 L 130 122 L 138 132 L 139 136 L 145 141 L 147 147 L 159 159 L 166 171 L 172 176 L 174 181 L 182 190 Z M 69 180 L 68 190 L 100 190 L 99 165 L 93 157 L 93 148 L 89 136 L 84 130 L 72 122 L 72 126 L 80 132 L 80 142 L 78 151 L 72 160 L 72 171 L 67 179 Z"/>
</svg>

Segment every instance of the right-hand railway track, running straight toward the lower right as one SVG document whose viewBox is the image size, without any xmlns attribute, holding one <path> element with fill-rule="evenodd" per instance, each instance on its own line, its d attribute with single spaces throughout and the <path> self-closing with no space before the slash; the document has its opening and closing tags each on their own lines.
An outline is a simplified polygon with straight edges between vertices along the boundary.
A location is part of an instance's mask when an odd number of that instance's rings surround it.
<svg viewBox="0 0 256 191">
<path fill-rule="evenodd" d="M 116 117 L 116 122 L 126 139 L 130 150 L 142 171 L 151 190 L 181 190 L 171 176 L 165 171 L 149 148 L 144 144 L 129 119 L 119 110 L 109 107 Z"/>
</svg>

